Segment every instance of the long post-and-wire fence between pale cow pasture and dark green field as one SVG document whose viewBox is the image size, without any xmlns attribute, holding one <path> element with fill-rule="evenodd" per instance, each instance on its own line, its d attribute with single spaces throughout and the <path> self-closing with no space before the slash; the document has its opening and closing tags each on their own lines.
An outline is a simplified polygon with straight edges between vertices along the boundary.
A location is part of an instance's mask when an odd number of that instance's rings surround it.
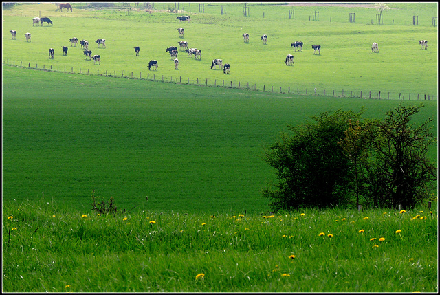
<svg viewBox="0 0 440 295">
<path fill-rule="evenodd" d="M 364 99 L 384 99 L 384 100 L 437 100 L 438 94 L 417 94 L 414 92 L 391 92 L 391 91 L 362 91 L 362 90 L 347 90 L 347 89 L 316 89 L 307 87 L 278 87 L 273 85 L 257 85 L 256 83 L 232 81 L 225 79 L 208 79 L 208 78 L 188 78 L 182 76 L 164 76 L 157 74 L 157 72 L 148 71 L 144 74 L 142 72 L 134 74 L 133 72 L 127 72 L 124 70 L 113 70 L 105 72 L 100 72 L 99 69 L 94 69 L 93 72 L 90 69 L 84 69 L 81 67 L 54 67 L 52 65 L 31 65 L 30 62 L 23 63 L 22 61 L 16 62 L 12 61 L 10 63 L 9 58 L 3 60 L 3 65 L 15 66 L 15 67 L 26 67 L 29 69 L 39 69 L 50 72 L 64 72 L 69 74 L 85 74 L 85 75 L 97 75 L 97 76 L 107 76 L 115 78 L 131 78 L 137 80 L 151 80 L 159 81 L 164 83 L 179 83 L 185 85 L 205 85 L 209 87 L 225 87 L 225 88 L 235 88 L 235 89 L 248 89 L 252 91 L 264 91 L 280 94 L 296 94 L 296 95 L 309 95 L 309 96 L 329 96 L 329 97 L 343 97 L 343 98 L 364 98 Z M 96 71 L 96 72 L 95 72 Z"/>
</svg>

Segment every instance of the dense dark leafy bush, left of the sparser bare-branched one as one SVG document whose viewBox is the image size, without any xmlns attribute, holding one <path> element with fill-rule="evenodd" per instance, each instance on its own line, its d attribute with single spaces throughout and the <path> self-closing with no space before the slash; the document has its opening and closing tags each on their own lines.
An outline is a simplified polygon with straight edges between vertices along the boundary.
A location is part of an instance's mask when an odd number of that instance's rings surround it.
<svg viewBox="0 0 440 295">
<path fill-rule="evenodd" d="M 338 144 L 349 120 L 361 113 L 338 110 L 312 117 L 315 123 L 289 126 L 291 134 L 265 150 L 263 160 L 276 169 L 275 188 L 263 190 L 274 210 L 327 207 L 347 203 L 352 190 L 350 160 Z"/>
</svg>

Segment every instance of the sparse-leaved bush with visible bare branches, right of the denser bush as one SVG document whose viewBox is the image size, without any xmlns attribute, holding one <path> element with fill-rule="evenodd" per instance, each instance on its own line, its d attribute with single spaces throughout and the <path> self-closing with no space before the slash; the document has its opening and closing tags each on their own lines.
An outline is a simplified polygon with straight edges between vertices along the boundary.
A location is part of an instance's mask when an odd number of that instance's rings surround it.
<svg viewBox="0 0 440 295">
<path fill-rule="evenodd" d="M 371 129 L 369 157 L 363 162 L 366 195 L 375 206 L 415 206 L 427 197 L 437 179 L 437 168 L 428 160 L 429 147 L 437 142 L 428 124 L 410 124 L 423 107 L 402 106 L 386 113 Z"/>
</svg>

